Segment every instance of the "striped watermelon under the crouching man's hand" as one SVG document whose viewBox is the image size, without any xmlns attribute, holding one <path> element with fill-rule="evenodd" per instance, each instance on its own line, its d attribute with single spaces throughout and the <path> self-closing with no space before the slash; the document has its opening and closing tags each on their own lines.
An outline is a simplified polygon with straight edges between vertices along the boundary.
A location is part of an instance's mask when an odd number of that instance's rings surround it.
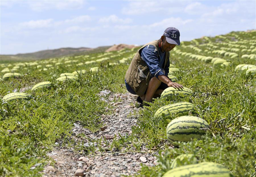
<svg viewBox="0 0 256 177">
<path fill-rule="evenodd" d="M 161 97 L 163 97 L 163 98 L 167 97 L 168 99 L 173 100 L 173 98 L 174 98 L 173 96 L 179 95 L 179 94 L 194 95 L 194 92 L 187 87 L 183 87 L 180 90 L 178 90 L 177 88 L 174 88 L 174 87 L 168 87 L 167 89 L 165 89 L 162 92 Z"/>
</svg>

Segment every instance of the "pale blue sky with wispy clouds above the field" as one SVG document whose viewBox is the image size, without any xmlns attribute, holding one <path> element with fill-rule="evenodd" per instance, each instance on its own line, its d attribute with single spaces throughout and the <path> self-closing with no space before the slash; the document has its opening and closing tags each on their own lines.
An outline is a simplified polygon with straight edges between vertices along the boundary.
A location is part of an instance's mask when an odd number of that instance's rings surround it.
<svg viewBox="0 0 256 177">
<path fill-rule="evenodd" d="M 0 1 L 0 54 L 143 45 L 256 29 L 256 1 Z"/>
</svg>

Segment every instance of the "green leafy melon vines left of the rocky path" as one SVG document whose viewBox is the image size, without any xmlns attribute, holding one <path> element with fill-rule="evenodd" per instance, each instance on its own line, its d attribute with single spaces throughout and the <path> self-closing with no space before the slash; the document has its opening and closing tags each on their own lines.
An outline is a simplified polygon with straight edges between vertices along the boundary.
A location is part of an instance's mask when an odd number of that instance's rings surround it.
<svg viewBox="0 0 256 177">
<path fill-rule="evenodd" d="M 0 82 L 1 97 L 9 92 L 32 88 L 42 81 L 52 82 L 49 88 L 26 90 L 30 95 L 29 100 L 0 100 L 0 176 L 41 176 L 38 172 L 47 164 L 46 152 L 52 149 L 56 141 L 67 142 L 70 146 L 75 144 L 70 140 L 74 123 L 92 132 L 98 131 L 103 125 L 101 115 L 112 112 L 112 105 L 104 101 L 108 96 L 100 96 L 99 92 L 104 89 L 123 92 L 123 73 L 129 62 L 120 65 L 108 63 L 118 62 L 130 54 L 128 50 L 128 53 L 101 64 L 61 65 L 46 71 L 26 64 L 20 68 L 19 72 L 23 75 L 21 78 Z M 102 53 L 92 54 L 91 57 L 98 55 Z M 75 59 L 75 56 L 71 58 Z M 43 67 L 49 63 L 48 60 L 38 62 Z M 90 67 L 97 65 L 100 67 L 99 72 L 89 72 Z M 61 73 L 82 69 L 87 72 L 80 73 L 79 80 L 56 81 Z M 120 148 L 119 141 L 113 141 L 113 148 Z M 91 149 L 90 152 L 95 151 L 94 146 Z"/>
</svg>

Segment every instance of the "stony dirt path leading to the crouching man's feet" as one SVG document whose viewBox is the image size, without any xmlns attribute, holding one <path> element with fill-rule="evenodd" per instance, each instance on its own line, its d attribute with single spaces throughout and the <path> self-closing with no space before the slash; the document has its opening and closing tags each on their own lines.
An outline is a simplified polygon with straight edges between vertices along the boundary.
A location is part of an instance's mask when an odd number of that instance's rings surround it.
<svg viewBox="0 0 256 177">
<path fill-rule="evenodd" d="M 101 91 L 100 94 L 108 94 L 109 91 Z M 114 103 L 114 99 L 120 98 L 120 102 Z M 129 113 L 137 112 L 138 109 L 131 106 L 131 102 L 135 103 L 136 98 L 130 93 L 125 94 L 111 94 L 106 100 L 113 104 L 114 113 L 112 115 L 103 115 L 102 121 L 106 126 L 101 128 L 101 131 L 92 133 L 87 129 L 82 128 L 78 123 L 74 124 L 73 139 L 76 139 L 75 135 L 83 133 L 90 139 L 99 139 L 105 137 L 109 143 L 113 141 L 113 137 L 119 134 L 125 136 L 131 134 L 131 127 L 136 126 L 137 117 L 128 116 Z M 93 143 L 85 143 L 85 147 L 96 146 Z M 144 149 L 144 151 L 147 149 Z M 79 153 L 74 152 L 71 149 L 64 147 L 54 148 L 48 156 L 54 159 L 54 166 L 50 163 L 45 167 L 43 171 L 43 177 L 73 177 L 73 176 L 91 176 L 91 177 L 116 177 L 122 175 L 131 175 L 137 173 L 141 168 L 140 164 L 144 163 L 147 166 L 153 166 L 156 164 L 156 158 L 153 156 L 155 153 L 111 153 L 106 152 L 101 155 L 100 152 L 96 152 L 96 155 L 89 155 L 81 157 Z"/>
</svg>

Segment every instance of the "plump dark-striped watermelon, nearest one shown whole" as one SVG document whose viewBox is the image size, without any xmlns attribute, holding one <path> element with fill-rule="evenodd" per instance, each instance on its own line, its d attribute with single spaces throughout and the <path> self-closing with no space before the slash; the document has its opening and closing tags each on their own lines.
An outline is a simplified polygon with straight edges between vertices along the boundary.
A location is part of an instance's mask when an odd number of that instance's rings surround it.
<svg viewBox="0 0 256 177">
<path fill-rule="evenodd" d="M 205 130 L 202 128 L 208 128 L 209 124 L 199 117 L 195 116 L 181 116 L 173 119 L 166 128 L 166 136 L 168 141 L 174 146 L 175 141 L 188 142 L 191 138 L 201 139 L 201 136 L 205 134 Z"/>
</svg>

